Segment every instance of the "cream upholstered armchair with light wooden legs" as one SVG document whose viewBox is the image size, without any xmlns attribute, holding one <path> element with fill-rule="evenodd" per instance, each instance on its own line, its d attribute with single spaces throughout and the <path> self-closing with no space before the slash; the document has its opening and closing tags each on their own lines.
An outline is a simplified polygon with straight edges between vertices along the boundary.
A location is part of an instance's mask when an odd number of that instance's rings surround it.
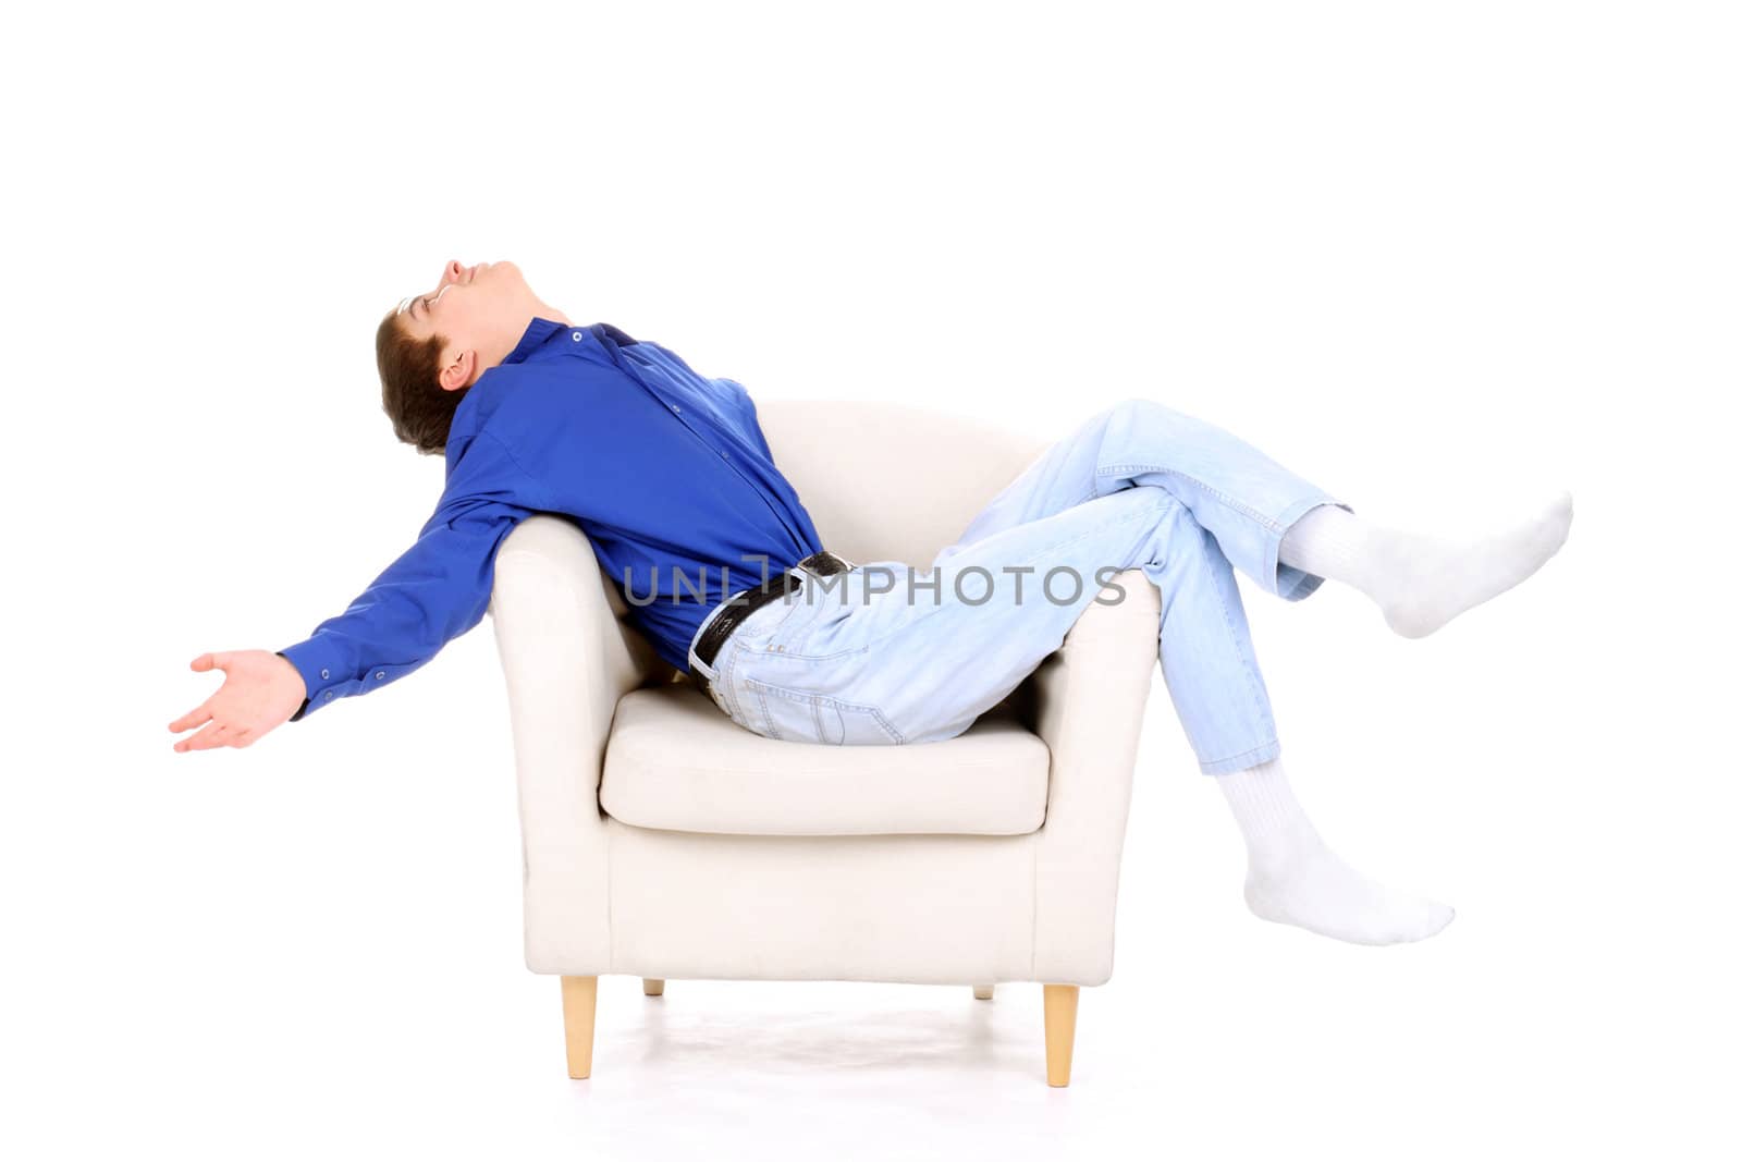
<svg viewBox="0 0 1742 1162">
<path fill-rule="evenodd" d="M 873 402 L 761 404 L 824 545 L 928 566 L 1042 446 Z M 890 472 L 899 465 L 901 472 Z M 1160 601 L 1139 570 L 1003 706 L 944 742 L 761 739 L 658 660 L 578 526 L 496 554 L 524 848 L 526 965 L 563 977 L 570 1077 L 599 974 L 1045 986 L 1047 1082 L 1113 911 Z M 916 659 L 916 664 L 920 659 Z"/>
</svg>

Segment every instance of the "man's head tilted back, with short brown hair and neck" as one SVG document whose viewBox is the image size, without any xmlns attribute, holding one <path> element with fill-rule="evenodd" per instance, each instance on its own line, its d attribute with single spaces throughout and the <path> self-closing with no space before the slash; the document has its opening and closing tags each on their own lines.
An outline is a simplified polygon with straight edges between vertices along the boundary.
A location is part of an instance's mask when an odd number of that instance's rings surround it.
<svg viewBox="0 0 1742 1162">
<path fill-rule="evenodd" d="M 535 317 L 568 322 L 507 261 L 449 261 L 434 287 L 401 300 L 375 331 L 394 434 L 418 451 L 442 451 L 467 388 L 509 357 Z"/>
</svg>

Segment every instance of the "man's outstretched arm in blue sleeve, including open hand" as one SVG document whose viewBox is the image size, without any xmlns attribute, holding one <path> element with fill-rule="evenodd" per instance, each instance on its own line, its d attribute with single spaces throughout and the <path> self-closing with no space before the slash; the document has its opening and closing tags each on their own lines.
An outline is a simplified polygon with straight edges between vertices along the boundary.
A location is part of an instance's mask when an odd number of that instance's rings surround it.
<svg viewBox="0 0 1742 1162">
<path fill-rule="evenodd" d="M 195 671 L 221 669 L 225 683 L 169 723 L 204 726 L 178 751 L 246 747 L 286 721 L 338 697 L 368 693 L 429 662 L 477 625 L 490 606 L 495 552 L 540 493 L 490 432 L 449 465 L 436 512 L 413 544 L 347 610 L 277 653 L 202 653 Z"/>
</svg>

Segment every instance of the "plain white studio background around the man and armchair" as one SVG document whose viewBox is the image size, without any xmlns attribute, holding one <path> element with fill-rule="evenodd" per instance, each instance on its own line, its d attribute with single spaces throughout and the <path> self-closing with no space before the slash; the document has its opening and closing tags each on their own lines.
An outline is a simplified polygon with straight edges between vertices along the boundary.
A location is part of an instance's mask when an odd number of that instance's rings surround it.
<svg viewBox="0 0 1742 1162">
<path fill-rule="evenodd" d="M 1730 5 L 33 7 L 0 1152 L 1735 1157 Z M 1150 395 L 1430 530 L 1570 488 L 1421 641 L 1242 578 L 1301 800 L 1458 920 L 1249 916 L 1157 681 L 1068 1091 L 1038 986 L 629 977 L 566 1080 L 488 625 L 247 751 L 165 730 L 429 516 L 371 340 L 448 258 L 758 399 Z"/>
</svg>

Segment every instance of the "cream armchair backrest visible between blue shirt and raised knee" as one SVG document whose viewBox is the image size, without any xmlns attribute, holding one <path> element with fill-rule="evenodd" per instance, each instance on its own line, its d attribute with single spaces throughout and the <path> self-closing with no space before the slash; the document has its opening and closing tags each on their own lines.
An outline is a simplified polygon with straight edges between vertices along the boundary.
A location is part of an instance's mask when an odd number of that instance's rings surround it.
<svg viewBox="0 0 1742 1162">
<path fill-rule="evenodd" d="M 770 399 L 756 416 L 822 547 L 930 566 L 1045 444 L 970 416 L 880 401 Z"/>
</svg>

